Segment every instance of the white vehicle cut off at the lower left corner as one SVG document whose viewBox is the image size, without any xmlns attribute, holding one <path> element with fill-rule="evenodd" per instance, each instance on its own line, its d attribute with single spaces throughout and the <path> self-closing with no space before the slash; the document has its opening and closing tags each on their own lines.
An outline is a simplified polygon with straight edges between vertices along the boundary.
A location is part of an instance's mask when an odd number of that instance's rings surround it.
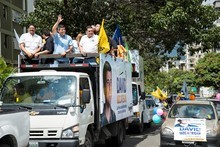
<svg viewBox="0 0 220 147">
<path fill-rule="evenodd" d="M 28 111 L 0 105 L 0 147 L 27 147 L 30 120 Z M 22 107 L 20 109 L 23 109 Z"/>
</svg>

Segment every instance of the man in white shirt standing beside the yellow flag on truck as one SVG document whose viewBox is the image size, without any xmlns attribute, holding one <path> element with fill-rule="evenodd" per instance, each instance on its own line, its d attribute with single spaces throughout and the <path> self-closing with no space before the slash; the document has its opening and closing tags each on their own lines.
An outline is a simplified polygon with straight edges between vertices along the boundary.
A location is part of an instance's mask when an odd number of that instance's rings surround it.
<svg viewBox="0 0 220 147">
<path fill-rule="evenodd" d="M 79 42 L 79 50 L 84 56 L 86 53 L 98 53 L 98 36 L 94 34 L 94 29 L 91 26 L 86 28 L 86 35 Z M 87 58 L 84 62 L 95 62 L 95 58 Z"/>
</svg>

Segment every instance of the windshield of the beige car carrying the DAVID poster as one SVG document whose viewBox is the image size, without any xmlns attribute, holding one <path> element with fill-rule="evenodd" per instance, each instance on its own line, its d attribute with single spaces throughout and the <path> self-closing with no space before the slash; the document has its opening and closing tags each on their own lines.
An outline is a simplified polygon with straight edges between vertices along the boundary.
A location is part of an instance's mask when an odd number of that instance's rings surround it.
<svg viewBox="0 0 220 147">
<path fill-rule="evenodd" d="M 168 117 L 215 119 L 215 113 L 211 105 L 176 104 L 171 108 Z"/>
</svg>

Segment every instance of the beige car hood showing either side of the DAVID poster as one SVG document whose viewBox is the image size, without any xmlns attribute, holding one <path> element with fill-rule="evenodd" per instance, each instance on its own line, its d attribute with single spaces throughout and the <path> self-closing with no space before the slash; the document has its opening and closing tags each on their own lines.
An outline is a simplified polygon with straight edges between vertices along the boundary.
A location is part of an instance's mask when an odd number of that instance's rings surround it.
<svg viewBox="0 0 220 147">
<path fill-rule="evenodd" d="M 167 118 L 164 123 L 162 124 L 162 129 L 169 128 L 172 131 L 174 130 L 176 118 Z M 210 130 L 217 127 L 217 122 L 215 120 L 206 120 L 206 130 Z"/>
</svg>

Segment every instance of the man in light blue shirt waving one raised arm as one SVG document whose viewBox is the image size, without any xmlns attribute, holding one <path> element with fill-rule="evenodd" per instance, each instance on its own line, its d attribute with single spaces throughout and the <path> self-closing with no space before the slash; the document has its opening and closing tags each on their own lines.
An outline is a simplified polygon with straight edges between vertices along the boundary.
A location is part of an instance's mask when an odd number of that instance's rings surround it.
<svg viewBox="0 0 220 147">
<path fill-rule="evenodd" d="M 54 52 L 53 54 L 60 54 L 65 57 L 67 53 L 72 53 L 73 42 L 72 38 L 66 34 L 66 28 L 64 25 L 59 25 L 63 21 L 61 15 L 58 15 L 57 22 L 52 28 L 52 34 L 54 38 Z M 58 29 L 57 29 L 58 28 Z M 68 58 L 59 58 L 54 60 L 54 64 L 69 63 Z"/>
</svg>

